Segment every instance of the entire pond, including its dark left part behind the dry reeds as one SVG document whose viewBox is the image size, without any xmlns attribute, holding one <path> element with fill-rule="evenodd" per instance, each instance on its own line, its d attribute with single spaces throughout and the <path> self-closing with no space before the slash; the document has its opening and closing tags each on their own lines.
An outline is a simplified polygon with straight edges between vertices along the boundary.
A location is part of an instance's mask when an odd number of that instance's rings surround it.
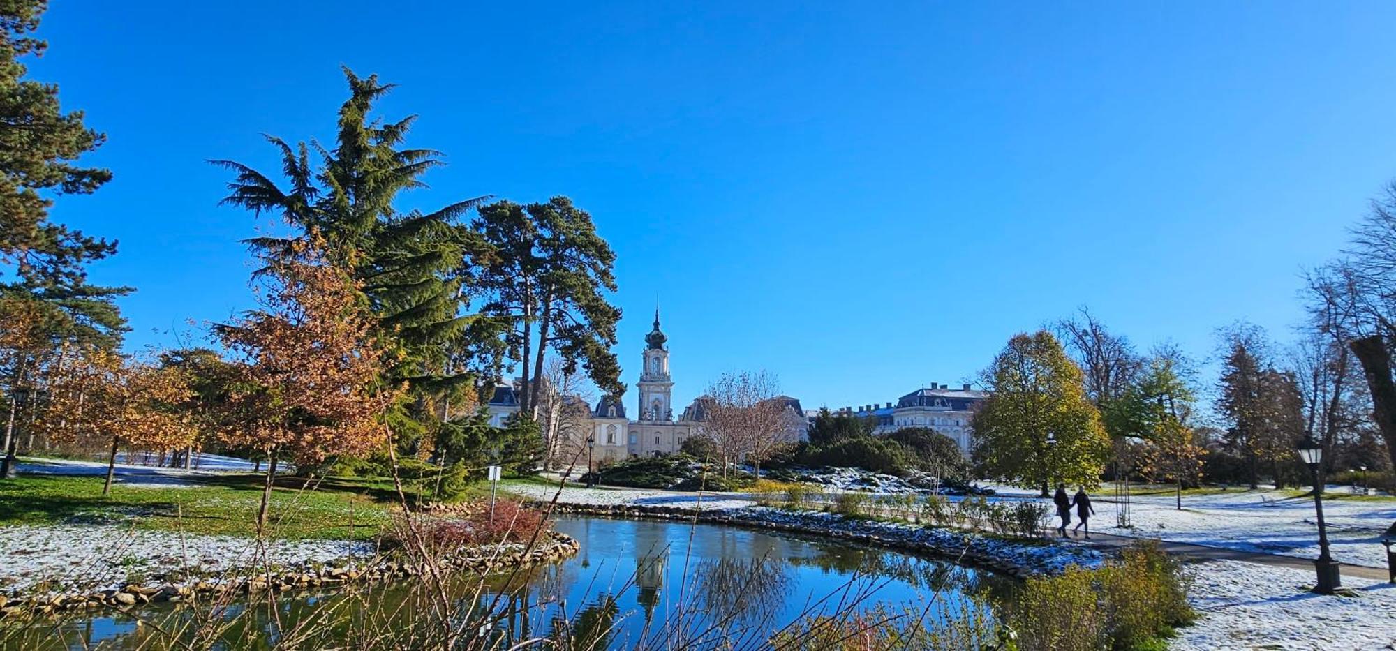
<svg viewBox="0 0 1396 651">
<path fill-rule="evenodd" d="M 4 648 L 409 648 L 444 630 L 508 648 L 759 648 L 796 622 L 884 613 L 984 616 L 1015 583 L 986 571 L 817 536 L 676 521 L 560 518 L 581 552 L 512 577 L 147 606 L 0 633 Z M 450 594 L 447 594 L 450 592 Z M 437 626 L 448 619 L 455 626 Z M 429 623 L 423 623 L 429 622 Z M 431 623 L 436 622 L 436 623 Z M 466 623 L 469 622 L 469 623 Z"/>
</svg>

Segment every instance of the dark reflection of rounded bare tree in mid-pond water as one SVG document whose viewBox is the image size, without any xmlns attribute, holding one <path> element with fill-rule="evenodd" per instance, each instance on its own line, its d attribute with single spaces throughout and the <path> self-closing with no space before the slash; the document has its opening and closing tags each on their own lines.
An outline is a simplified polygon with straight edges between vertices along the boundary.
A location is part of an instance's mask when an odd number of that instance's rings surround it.
<svg viewBox="0 0 1396 651">
<path fill-rule="evenodd" d="M 704 609 L 719 622 L 765 622 L 794 584 L 785 559 L 771 556 L 705 560 L 695 578 Z"/>
</svg>

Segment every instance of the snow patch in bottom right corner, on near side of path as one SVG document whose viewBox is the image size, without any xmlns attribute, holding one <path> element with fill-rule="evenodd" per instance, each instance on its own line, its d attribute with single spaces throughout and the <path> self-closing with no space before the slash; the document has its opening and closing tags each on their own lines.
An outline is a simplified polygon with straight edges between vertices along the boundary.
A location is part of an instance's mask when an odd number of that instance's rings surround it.
<svg viewBox="0 0 1396 651">
<path fill-rule="evenodd" d="M 1233 651 L 1396 648 L 1396 585 L 1343 577 L 1346 595 L 1308 592 L 1314 573 L 1235 560 L 1192 567 L 1201 615 L 1168 648 Z"/>
</svg>

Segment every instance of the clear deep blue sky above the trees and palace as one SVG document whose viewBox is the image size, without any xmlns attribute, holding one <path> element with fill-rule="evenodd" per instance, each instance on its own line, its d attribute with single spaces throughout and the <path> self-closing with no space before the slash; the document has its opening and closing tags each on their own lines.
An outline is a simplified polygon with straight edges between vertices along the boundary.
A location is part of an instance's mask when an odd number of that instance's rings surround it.
<svg viewBox="0 0 1396 651">
<path fill-rule="evenodd" d="M 116 179 L 53 217 L 120 240 L 94 277 L 140 289 L 133 348 L 248 306 L 257 224 L 204 161 L 274 170 L 258 134 L 331 137 L 348 64 L 448 154 L 409 207 L 593 214 L 627 383 L 658 295 L 676 402 L 764 367 L 842 407 L 959 383 L 1081 305 L 1198 355 L 1237 319 L 1289 338 L 1301 270 L 1396 177 L 1393 24 L 1389 3 L 53 0 L 32 71 L 110 138 L 87 161 Z"/>
</svg>

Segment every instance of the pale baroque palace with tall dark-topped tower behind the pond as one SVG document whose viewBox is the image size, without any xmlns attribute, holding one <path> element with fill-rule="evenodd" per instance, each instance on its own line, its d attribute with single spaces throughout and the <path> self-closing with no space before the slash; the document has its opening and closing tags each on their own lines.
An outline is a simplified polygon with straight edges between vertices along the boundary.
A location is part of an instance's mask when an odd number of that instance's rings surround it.
<svg viewBox="0 0 1396 651">
<path fill-rule="evenodd" d="M 591 409 L 591 436 L 595 440 L 595 461 L 607 464 L 627 457 L 660 455 L 677 453 L 685 440 L 702 433 L 704 407 L 712 398 L 699 395 L 678 418 L 674 418 L 673 377 L 669 374 L 669 337 L 659 330 L 659 310 L 655 310 L 655 328 L 645 335 L 644 366 L 639 381 L 635 383 L 638 400 L 635 416 L 625 414 L 625 404 L 613 397 L 604 397 Z M 799 415 L 804 415 L 800 401 L 782 395 L 773 398 L 786 404 Z M 518 414 L 517 390 L 500 384 L 489 404 L 490 423 L 503 425 L 512 414 Z M 799 432 L 804 437 L 804 430 Z"/>
</svg>

